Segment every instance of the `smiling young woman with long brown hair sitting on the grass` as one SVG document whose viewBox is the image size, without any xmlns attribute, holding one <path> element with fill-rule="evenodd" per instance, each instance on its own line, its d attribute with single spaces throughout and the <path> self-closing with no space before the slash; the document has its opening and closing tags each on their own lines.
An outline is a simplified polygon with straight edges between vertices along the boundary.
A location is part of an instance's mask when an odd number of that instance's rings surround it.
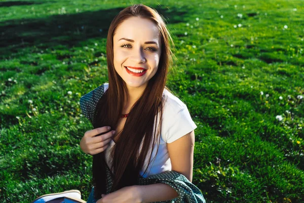
<svg viewBox="0 0 304 203">
<path fill-rule="evenodd" d="M 92 122 L 80 146 L 93 155 L 91 202 L 205 202 L 192 182 L 197 128 L 165 86 L 174 46 L 163 18 L 122 10 L 106 43 L 108 83 L 80 99 Z"/>
</svg>

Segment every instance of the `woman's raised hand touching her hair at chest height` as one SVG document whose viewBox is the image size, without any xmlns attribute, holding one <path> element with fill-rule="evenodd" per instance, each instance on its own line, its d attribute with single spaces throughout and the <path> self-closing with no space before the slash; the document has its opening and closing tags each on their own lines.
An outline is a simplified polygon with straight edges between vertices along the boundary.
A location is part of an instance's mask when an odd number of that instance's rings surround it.
<svg viewBox="0 0 304 203">
<path fill-rule="evenodd" d="M 103 126 L 86 131 L 84 137 L 80 141 L 80 148 L 82 151 L 90 155 L 103 152 L 109 146 L 109 142 L 111 141 L 113 134 L 115 134 L 115 130 L 105 133 L 109 130 L 107 127 L 108 126 Z"/>
</svg>

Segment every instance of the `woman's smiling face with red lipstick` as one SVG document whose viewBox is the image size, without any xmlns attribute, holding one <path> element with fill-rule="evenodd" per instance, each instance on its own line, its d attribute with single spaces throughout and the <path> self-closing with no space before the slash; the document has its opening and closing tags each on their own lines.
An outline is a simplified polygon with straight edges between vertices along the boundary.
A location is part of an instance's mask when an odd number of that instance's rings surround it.
<svg viewBox="0 0 304 203">
<path fill-rule="evenodd" d="M 146 87 L 156 74 L 160 61 L 161 37 L 158 27 L 148 19 L 128 18 L 117 27 L 113 36 L 113 54 L 115 70 L 127 86 Z M 143 68 L 144 72 L 134 73 L 140 71 L 135 67 Z"/>
</svg>

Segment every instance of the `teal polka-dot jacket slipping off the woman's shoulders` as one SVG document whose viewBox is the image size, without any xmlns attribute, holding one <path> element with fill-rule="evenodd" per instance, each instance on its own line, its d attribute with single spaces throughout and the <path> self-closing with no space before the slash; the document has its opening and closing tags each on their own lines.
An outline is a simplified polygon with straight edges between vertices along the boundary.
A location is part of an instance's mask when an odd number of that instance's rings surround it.
<svg viewBox="0 0 304 203">
<path fill-rule="evenodd" d="M 97 87 L 96 89 L 90 91 L 89 93 L 83 95 L 80 98 L 80 108 L 82 110 L 82 113 L 93 123 L 93 113 L 96 107 L 96 104 L 100 97 L 104 93 L 104 87 L 103 85 Z M 112 177 L 110 175 L 109 168 L 107 168 L 107 183 L 109 183 L 106 186 L 106 194 L 110 192 L 110 189 L 112 187 Z M 200 203 L 206 203 L 206 200 L 201 193 L 200 189 L 196 187 L 194 184 L 192 184 L 185 176 L 182 174 L 176 172 L 176 171 L 169 171 L 164 172 L 157 175 L 151 175 L 147 178 L 140 178 L 137 185 L 149 185 L 149 184 L 155 184 L 155 183 L 165 183 L 169 186 L 171 186 L 178 194 L 179 196 L 167 200 L 167 201 L 158 201 L 153 203 L 181 203 L 181 202 L 200 202 Z M 89 198 L 87 200 L 87 203 L 95 203 L 97 199 L 94 199 L 94 187 L 92 187 L 91 193 L 89 195 Z"/>
</svg>

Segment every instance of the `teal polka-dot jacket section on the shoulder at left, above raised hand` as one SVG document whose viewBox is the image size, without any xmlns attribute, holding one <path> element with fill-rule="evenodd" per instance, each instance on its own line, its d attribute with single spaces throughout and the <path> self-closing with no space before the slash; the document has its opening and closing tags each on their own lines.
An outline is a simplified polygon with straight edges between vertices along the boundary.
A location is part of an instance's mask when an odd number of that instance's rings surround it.
<svg viewBox="0 0 304 203">
<path fill-rule="evenodd" d="M 103 93 L 104 93 L 104 84 L 93 89 L 92 91 L 83 95 L 80 98 L 80 109 L 82 111 L 82 114 L 85 115 L 91 121 L 92 124 L 95 122 L 94 119 L 95 108 Z"/>
</svg>

